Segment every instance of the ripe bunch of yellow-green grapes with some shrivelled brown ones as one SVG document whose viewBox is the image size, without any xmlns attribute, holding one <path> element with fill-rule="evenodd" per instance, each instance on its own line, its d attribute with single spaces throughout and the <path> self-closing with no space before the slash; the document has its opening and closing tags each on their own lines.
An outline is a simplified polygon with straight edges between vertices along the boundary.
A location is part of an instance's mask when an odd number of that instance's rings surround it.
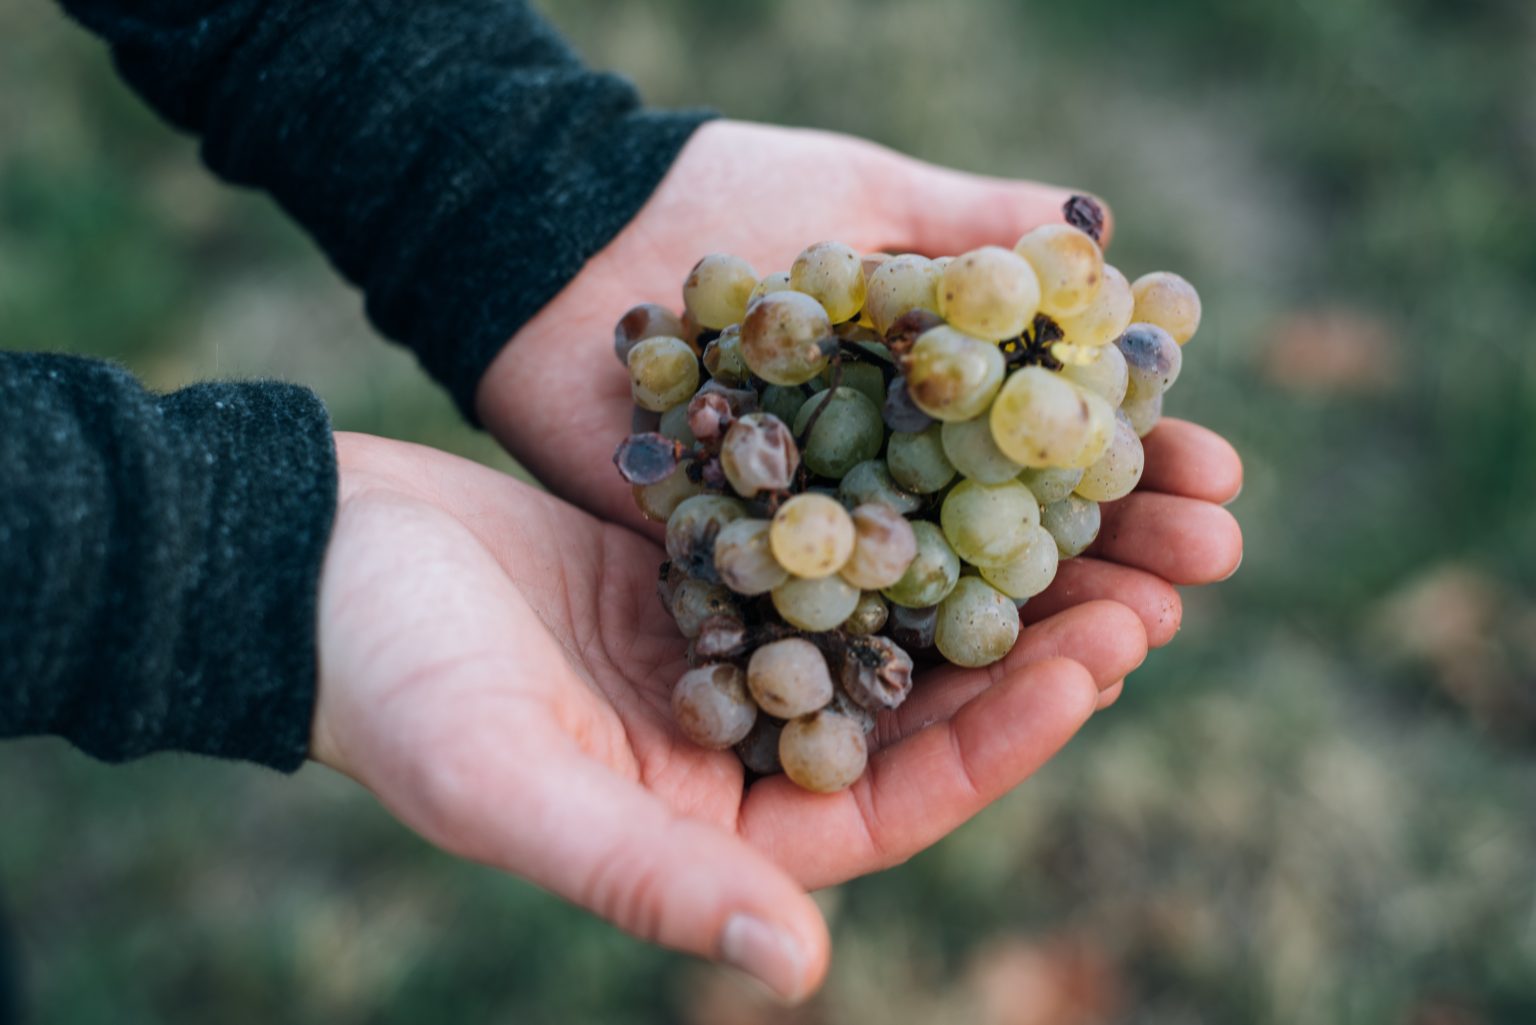
<svg viewBox="0 0 1536 1025">
<path fill-rule="evenodd" d="M 1003 658 L 1137 486 L 1200 297 L 1104 263 L 1092 200 L 1066 221 L 937 260 L 817 243 L 763 278 L 710 255 L 682 317 L 619 321 L 636 433 L 614 463 L 667 524 L 693 741 L 851 785 L 912 653 Z"/>
</svg>

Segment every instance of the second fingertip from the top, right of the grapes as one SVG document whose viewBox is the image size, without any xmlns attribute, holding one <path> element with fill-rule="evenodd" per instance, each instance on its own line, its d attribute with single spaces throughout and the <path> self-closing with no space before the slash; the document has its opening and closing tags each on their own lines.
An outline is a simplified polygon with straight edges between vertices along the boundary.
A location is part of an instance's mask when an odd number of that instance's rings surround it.
<svg viewBox="0 0 1536 1025">
<path fill-rule="evenodd" d="M 1170 584 L 1213 584 L 1243 561 L 1243 529 L 1221 506 L 1132 492 L 1101 507 L 1089 553 L 1157 573 Z"/>
</svg>

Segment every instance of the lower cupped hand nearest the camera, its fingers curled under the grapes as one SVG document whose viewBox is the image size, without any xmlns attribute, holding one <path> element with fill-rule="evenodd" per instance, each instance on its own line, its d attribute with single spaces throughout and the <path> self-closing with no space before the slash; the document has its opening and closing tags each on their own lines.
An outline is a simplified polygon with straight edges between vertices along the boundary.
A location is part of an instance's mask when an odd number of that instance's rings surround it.
<svg viewBox="0 0 1536 1025">
<path fill-rule="evenodd" d="M 811 794 L 746 787 L 673 727 L 684 641 L 654 542 L 430 449 L 338 435 L 338 453 L 315 758 L 439 847 L 788 999 L 829 956 L 806 888 L 909 857 L 1034 773 L 1177 627 L 1166 579 L 1224 576 L 1241 550 L 1213 504 L 1235 455 L 1158 427 L 1104 561 L 1068 564 L 1003 662 L 922 675 L 865 778 Z"/>
</svg>

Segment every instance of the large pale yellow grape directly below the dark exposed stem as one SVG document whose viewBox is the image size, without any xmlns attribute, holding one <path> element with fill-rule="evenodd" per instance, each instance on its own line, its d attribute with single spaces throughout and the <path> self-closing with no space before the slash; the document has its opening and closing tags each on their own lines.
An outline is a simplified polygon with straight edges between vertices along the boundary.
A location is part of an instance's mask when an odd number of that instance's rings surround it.
<svg viewBox="0 0 1536 1025">
<path fill-rule="evenodd" d="M 1101 395 L 1029 366 L 1003 384 L 991 424 L 997 447 L 1020 466 L 1086 466 L 1109 446 L 1114 409 Z"/>
</svg>

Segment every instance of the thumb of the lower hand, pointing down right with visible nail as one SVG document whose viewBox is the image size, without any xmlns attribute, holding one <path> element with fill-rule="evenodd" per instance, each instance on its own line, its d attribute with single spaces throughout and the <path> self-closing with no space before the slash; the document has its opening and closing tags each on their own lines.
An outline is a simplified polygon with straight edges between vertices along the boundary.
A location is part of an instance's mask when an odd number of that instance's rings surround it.
<svg viewBox="0 0 1536 1025">
<path fill-rule="evenodd" d="M 476 748 L 450 759 L 462 770 L 444 767 L 432 801 L 441 828 L 424 830 L 429 839 L 641 939 L 739 968 L 785 1000 L 820 985 L 826 922 L 745 841 L 676 814 L 565 736 Z"/>
</svg>

